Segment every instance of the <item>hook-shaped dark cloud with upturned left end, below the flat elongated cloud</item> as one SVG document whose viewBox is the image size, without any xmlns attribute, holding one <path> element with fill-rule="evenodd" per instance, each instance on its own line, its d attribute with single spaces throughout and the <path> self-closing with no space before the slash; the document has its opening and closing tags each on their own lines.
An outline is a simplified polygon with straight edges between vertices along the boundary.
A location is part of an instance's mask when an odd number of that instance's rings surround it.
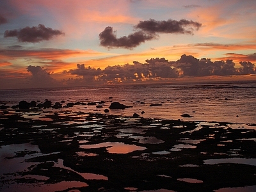
<svg viewBox="0 0 256 192">
<path fill-rule="evenodd" d="M 108 48 L 124 47 L 125 49 L 134 48 L 146 40 L 152 40 L 156 35 L 144 33 L 143 31 L 134 32 L 128 36 L 116 37 L 116 31 L 112 27 L 107 27 L 99 35 L 100 45 Z"/>
</svg>

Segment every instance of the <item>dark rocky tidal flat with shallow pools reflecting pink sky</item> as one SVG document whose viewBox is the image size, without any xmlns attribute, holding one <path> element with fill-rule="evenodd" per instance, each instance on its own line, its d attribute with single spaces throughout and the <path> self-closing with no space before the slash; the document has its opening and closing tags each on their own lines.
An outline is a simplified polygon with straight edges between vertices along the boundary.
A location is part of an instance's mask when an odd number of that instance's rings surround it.
<svg viewBox="0 0 256 192">
<path fill-rule="evenodd" d="M 253 190 L 255 130 L 189 118 L 0 111 L 0 191 Z"/>
</svg>

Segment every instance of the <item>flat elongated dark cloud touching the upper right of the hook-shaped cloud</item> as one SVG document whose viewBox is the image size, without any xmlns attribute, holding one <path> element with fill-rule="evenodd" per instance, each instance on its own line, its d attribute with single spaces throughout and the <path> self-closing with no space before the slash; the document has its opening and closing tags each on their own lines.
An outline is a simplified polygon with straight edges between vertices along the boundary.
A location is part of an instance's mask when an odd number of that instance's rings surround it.
<svg viewBox="0 0 256 192">
<path fill-rule="evenodd" d="M 177 20 L 145 20 L 140 21 L 134 26 L 136 29 L 141 29 L 149 33 L 182 33 L 193 35 L 193 28 L 198 30 L 202 24 L 193 20 L 181 19 Z"/>
</svg>

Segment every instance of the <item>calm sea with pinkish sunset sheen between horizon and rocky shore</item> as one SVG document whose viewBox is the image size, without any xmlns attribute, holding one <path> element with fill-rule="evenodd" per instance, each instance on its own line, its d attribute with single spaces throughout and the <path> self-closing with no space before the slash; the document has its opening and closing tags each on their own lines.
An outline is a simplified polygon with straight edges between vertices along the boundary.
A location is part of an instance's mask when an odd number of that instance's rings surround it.
<svg viewBox="0 0 256 192">
<path fill-rule="evenodd" d="M 79 105 L 65 109 L 69 111 L 104 113 L 104 109 L 108 108 L 111 102 L 118 101 L 133 107 L 111 110 L 111 114 L 132 116 L 138 113 L 145 118 L 256 124 L 255 81 L 0 90 L 0 105 L 12 106 L 20 100 L 44 102 L 45 99 L 53 103 L 61 100 L 65 100 L 66 103 L 100 100 L 106 102 L 100 109 L 95 106 Z M 162 106 L 153 107 L 150 104 Z M 143 115 L 142 111 L 145 112 Z M 193 117 L 182 118 L 180 115 L 184 113 Z"/>
</svg>

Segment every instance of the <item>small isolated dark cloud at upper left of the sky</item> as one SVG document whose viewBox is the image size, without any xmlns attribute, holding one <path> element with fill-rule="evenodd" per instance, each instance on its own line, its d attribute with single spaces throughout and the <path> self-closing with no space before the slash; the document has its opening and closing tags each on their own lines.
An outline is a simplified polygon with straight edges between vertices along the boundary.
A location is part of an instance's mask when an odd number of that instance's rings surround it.
<svg viewBox="0 0 256 192">
<path fill-rule="evenodd" d="M 59 30 L 54 30 L 52 28 L 45 28 L 44 25 L 39 24 L 37 27 L 26 27 L 22 29 L 6 30 L 4 32 L 4 37 L 17 37 L 19 42 L 41 42 L 44 40 L 50 40 L 53 36 L 64 35 L 63 32 Z"/>
</svg>

